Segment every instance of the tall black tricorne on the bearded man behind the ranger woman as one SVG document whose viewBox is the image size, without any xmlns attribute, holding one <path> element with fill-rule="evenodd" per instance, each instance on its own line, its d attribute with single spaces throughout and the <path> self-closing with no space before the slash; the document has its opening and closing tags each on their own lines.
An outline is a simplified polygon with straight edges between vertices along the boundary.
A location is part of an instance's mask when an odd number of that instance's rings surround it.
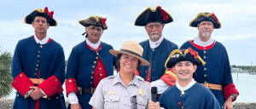
<svg viewBox="0 0 256 109">
<path fill-rule="evenodd" d="M 172 22 L 172 15 L 161 9 L 160 6 L 156 6 L 155 9 L 145 9 L 143 13 L 137 16 L 134 25 L 135 26 L 146 26 L 148 23 L 159 22 L 160 24 L 167 24 Z"/>
</svg>

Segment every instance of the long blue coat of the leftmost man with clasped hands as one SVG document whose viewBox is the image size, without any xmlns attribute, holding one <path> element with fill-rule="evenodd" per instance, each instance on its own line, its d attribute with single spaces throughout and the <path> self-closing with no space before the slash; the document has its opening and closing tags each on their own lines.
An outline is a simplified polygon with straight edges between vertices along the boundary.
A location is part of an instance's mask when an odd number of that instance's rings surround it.
<svg viewBox="0 0 256 109">
<path fill-rule="evenodd" d="M 47 79 L 51 76 L 57 77 L 61 84 L 65 80 L 65 56 L 61 44 L 51 40 L 49 43 L 36 43 L 33 37 L 27 37 L 17 43 L 13 57 L 11 72 L 12 77 L 17 77 L 20 72 L 24 72 L 26 77 Z M 39 57 L 38 57 L 39 55 Z M 37 66 L 37 64 L 39 66 Z M 40 69 L 39 69 L 40 67 Z M 18 83 L 18 82 L 17 82 Z M 51 85 L 49 84 L 49 87 Z M 40 109 L 65 109 L 64 96 L 56 94 L 47 96 L 47 99 L 40 99 Z M 24 98 L 18 91 L 16 92 L 14 109 L 33 109 L 36 100 L 31 97 Z"/>
</svg>

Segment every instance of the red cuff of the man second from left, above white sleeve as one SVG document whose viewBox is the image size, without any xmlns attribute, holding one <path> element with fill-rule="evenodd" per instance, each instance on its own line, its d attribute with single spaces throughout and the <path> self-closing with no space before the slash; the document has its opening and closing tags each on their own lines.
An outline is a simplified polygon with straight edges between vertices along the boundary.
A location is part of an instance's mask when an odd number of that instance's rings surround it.
<svg viewBox="0 0 256 109">
<path fill-rule="evenodd" d="M 70 92 L 75 92 L 78 95 L 77 80 L 74 78 L 67 78 L 66 80 L 66 95 Z M 68 96 L 67 96 L 68 97 Z"/>
</svg>

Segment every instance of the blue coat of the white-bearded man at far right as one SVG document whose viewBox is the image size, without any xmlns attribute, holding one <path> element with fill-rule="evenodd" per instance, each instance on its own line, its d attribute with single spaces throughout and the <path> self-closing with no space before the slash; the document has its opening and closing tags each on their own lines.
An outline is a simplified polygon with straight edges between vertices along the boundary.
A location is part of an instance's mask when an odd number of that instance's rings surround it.
<svg viewBox="0 0 256 109">
<path fill-rule="evenodd" d="M 197 66 L 195 81 L 198 83 L 213 83 L 222 85 L 222 88 L 233 83 L 230 70 L 230 60 L 222 43 L 216 42 L 211 49 L 198 49 L 189 41 L 183 43 L 180 49 L 194 49 L 206 62 L 205 66 Z M 217 98 L 219 105 L 224 106 L 224 93 L 222 90 L 210 89 Z"/>
</svg>

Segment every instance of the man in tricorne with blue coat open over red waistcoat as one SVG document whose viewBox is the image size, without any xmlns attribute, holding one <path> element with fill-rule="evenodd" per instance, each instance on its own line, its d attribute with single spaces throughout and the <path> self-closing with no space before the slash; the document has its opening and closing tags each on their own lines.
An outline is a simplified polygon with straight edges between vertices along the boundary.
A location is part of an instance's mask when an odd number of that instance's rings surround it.
<svg viewBox="0 0 256 109">
<path fill-rule="evenodd" d="M 113 49 L 100 41 L 103 30 L 108 29 L 107 18 L 90 16 L 79 20 L 85 26 L 85 41 L 73 47 L 67 62 L 66 89 L 71 109 L 91 109 L 90 97 L 98 83 L 113 75 L 116 58 L 108 51 Z"/>
</svg>

